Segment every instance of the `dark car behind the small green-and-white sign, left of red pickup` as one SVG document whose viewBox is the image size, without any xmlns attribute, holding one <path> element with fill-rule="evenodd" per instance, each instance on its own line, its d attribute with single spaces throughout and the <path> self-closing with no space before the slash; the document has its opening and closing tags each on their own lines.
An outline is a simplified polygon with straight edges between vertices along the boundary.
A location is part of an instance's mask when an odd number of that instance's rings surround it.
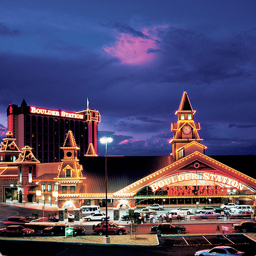
<svg viewBox="0 0 256 256">
<path fill-rule="evenodd" d="M 41 236 L 65 236 L 66 227 L 71 227 L 70 225 L 60 224 L 51 227 L 46 227 L 42 230 Z M 73 234 L 74 236 L 81 236 L 85 234 L 86 228 L 82 226 L 74 226 Z"/>
</svg>

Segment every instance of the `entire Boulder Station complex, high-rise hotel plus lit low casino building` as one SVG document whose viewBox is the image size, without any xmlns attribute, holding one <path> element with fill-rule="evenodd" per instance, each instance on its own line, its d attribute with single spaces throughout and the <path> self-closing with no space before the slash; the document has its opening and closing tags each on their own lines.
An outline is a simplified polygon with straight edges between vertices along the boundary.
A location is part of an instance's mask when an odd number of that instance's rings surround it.
<svg viewBox="0 0 256 256">
<path fill-rule="evenodd" d="M 129 208 L 152 203 L 196 205 L 208 203 L 209 198 L 217 204 L 255 205 L 256 175 L 251 167 L 255 156 L 205 155 L 207 147 L 201 143 L 195 113 L 187 93 L 183 92 L 175 112 L 178 120 L 171 125 L 169 156 L 108 156 L 108 204 L 114 209 L 115 220 L 124 205 Z M 13 146 L 16 140 L 17 148 L 33 153 L 26 158 L 27 165 L 34 159 L 32 178 L 16 183 L 17 188 L 23 186 L 20 192 L 23 201 L 29 201 L 26 198 L 29 195 L 32 202 L 52 203 L 54 184 L 59 222 L 67 222 L 67 209 L 72 206 L 77 224 L 82 222 L 81 205 L 105 205 L 105 157 L 97 155 L 98 111 L 49 110 L 27 106 L 24 100 L 19 108 L 9 105 L 7 115 L 9 138 L 2 142 L 0 155 L 5 154 L 8 140 Z M 0 161 L 3 169 L 0 182 L 8 179 L 9 167 L 22 164 L 20 159 L 21 156 L 12 162 Z M 4 169 L 4 166 L 9 167 Z M 8 186 L 7 182 L 1 184 Z M 41 193 L 36 194 L 36 190 Z"/>
</svg>

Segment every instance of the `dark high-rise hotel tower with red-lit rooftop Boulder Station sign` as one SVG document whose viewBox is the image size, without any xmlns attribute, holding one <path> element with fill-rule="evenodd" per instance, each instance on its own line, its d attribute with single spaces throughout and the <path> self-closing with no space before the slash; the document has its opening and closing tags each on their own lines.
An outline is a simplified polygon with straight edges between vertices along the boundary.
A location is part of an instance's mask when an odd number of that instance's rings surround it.
<svg viewBox="0 0 256 256">
<path fill-rule="evenodd" d="M 97 155 L 98 123 L 97 110 L 67 112 L 28 106 L 23 100 L 21 106 L 10 104 L 7 108 L 8 131 L 16 139 L 18 148 L 25 145 L 32 148 L 34 156 L 41 163 L 60 162 L 60 147 L 68 131 L 72 131 L 80 146 L 78 156 Z"/>
</svg>

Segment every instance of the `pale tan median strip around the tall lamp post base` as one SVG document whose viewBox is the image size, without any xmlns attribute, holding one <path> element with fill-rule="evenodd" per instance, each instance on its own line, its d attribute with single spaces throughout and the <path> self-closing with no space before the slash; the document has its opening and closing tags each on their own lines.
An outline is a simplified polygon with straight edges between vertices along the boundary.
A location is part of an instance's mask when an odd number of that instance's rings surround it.
<svg viewBox="0 0 256 256">
<path fill-rule="evenodd" d="M 45 242 L 66 242 L 66 243 L 94 243 L 103 244 L 104 236 L 77 236 L 77 237 L 24 237 L 13 238 L 5 237 L 1 240 L 29 240 L 29 241 L 45 241 Z M 125 234 L 122 236 L 111 235 L 111 244 L 123 244 L 123 245 L 158 245 L 158 238 L 156 234 L 137 234 L 137 236 L 130 236 Z"/>
</svg>

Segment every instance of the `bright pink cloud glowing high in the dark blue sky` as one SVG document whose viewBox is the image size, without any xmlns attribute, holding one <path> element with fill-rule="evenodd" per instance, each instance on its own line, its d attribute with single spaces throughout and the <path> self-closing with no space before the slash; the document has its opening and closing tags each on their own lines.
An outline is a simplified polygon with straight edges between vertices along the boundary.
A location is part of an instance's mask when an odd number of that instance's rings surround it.
<svg viewBox="0 0 256 256">
<path fill-rule="evenodd" d="M 132 34 L 121 33 L 116 36 L 116 41 L 110 47 L 103 50 L 127 65 L 141 65 L 154 60 L 159 47 L 156 43 L 156 28 L 154 31 L 143 29 L 144 38 Z"/>
</svg>

